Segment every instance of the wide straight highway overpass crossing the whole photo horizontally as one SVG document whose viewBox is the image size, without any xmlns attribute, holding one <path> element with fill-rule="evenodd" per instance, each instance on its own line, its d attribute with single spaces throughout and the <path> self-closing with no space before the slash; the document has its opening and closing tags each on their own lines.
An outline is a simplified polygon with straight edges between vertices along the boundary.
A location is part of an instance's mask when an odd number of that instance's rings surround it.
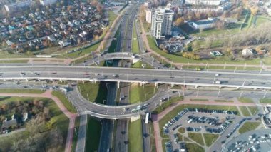
<svg viewBox="0 0 271 152">
<path fill-rule="evenodd" d="M 227 71 L 130 69 L 89 66 L 0 66 L 0 80 L 82 80 L 109 82 L 166 83 L 188 86 L 271 88 L 271 74 Z"/>
</svg>

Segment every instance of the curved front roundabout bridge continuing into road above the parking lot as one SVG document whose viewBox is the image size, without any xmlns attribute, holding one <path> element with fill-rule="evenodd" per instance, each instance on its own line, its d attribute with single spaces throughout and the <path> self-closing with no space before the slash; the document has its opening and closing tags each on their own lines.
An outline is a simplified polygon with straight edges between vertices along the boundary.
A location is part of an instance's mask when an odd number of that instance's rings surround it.
<svg viewBox="0 0 271 152">
<path fill-rule="evenodd" d="M 1 86 L 1 85 L 0 85 Z M 160 104 L 161 98 L 167 98 L 168 96 L 214 96 L 214 97 L 222 97 L 222 98 L 232 98 L 232 97 L 240 97 L 240 95 L 245 96 L 247 98 L 270 98 L 271 93 L 269 91 L 203 91 L 199 90 L 175 90 L 174 93 L 172 90 L 165 90 L 157 93 L 153 98 L 150 98 L 148 101 L 144 103 L 140 103 L 141 106 L 143 104 L 148 104 L 147 109 L 143 109 L 142 111 L 138 111 L 136 113 L 132 112 L 131 109 L 137 108 L 138 104 L 125 105 L 125 106 L 106 106 L 98 103 L 91 103 L 87 101 L 85 98 L 81 96 L 78 92 L 78 89 L 75 87 L 72 91 L 68 93 L 68 99 L 73 103 L 74 106 L 78 109 L 78 111 L 82 111 L 83 113 L 91 114 L 91 116 L 95 116 L 98 118 L 108 118 L 108 119 L 121 119 L 121 118 L 131 118 L 132 116 L 138 116 L 139 114 L 144 114 L 146 110 L 153 111 L 155 106 Z M 70 97 L 73 98 L 70 98 Z"/>
</svg>

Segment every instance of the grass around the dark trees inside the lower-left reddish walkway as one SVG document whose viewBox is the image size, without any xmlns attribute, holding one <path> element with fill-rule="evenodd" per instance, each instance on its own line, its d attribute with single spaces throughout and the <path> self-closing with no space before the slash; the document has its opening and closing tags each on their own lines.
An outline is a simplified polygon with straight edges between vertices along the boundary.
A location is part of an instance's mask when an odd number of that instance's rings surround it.
<svg viewBox="0 0 271 152">
<path fill-rule="evenodd" d="M 52 126 L 51 126 L 52 128 L 57 127 L 59 129 L 59 131 L 61 131 L 61 135 L 63 136 L 63 143 L 61 144 L 60 150 L 64 151 L 65 144 L 66 144 L 66 137 L 67 137 L 67 133 L 68 133 L 69 120 L 65 116 L 65 114 L 62 113 L 62 111 L 58 108 L 56 103 L 54 103 L 54 101 L 52 101 L 49 98 L 21 98 L 21 97 L 17 97 L 16 99 L 18 99 L 18 101 L 23 101 L 23 102 L 26 100 L 29 101 L 29 100 L 39 99 L 39 101 L 44 101 L 46 103 L 44 106 L 46 106 L 47 108 L 50 109 L 51 116 L 52 116 L 50 121 L 48 121 L 48 123 L 52 124 Z M 13 100 L 13 101 L 16 102 L 17 100 Z M 23 131 L 20 133 L 11 134 L 10 136 L 6 136 L 4 138 L 0 138 L 0 145 L 3 144 L 5 146 L 12 146 L 14 141 L 20 140 L 22 138 L 24 138 L 24 139 L 30 138 L 29 133 L 27 131 Z M 0 151 L 1 151 L 1 146 L 0 146 Z"/>
</svg>

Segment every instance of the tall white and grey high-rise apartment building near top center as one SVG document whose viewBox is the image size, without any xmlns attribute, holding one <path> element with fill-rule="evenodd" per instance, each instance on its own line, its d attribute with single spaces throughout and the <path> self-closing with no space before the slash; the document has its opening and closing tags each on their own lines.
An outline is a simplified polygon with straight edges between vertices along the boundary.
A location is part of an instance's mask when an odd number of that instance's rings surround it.
<svg viewBox="0 0 271 152">
<path fill-rule="evenodd" d="M 158 8 L 152 13 L 151 34 L 155 39 L 163 39 L 171 35 L 174 12 L 168 8 Z"/>
</svg>

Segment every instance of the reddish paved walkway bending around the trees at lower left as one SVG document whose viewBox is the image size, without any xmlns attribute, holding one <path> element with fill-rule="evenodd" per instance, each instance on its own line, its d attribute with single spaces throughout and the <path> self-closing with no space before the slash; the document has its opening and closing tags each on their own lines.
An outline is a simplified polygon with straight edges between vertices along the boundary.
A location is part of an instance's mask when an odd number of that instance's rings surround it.
<svg viewBox="0 0 271 152">
<path fill-rule="evenodd" d="M 66 107 L 61 103 L 61 101 L 51 94 L 51 90 L 46 91 L 41 94 L 34 93 L 0 93 L 0 96 L 19 96 L 19 97 L 36 97 L 36 98 L 51 98 L 55 101 L 56 105 L 60 110 L 69 118 L 70 122 L 68 124 L 68 136 L 66 138 L 66 146 L 65 152 L 71 151 L 71 145 L 73 141 L 73 131 L 74 131 L 74 123 L 77 116 L 77 113 L 70 113 Z"/>
</svg>

